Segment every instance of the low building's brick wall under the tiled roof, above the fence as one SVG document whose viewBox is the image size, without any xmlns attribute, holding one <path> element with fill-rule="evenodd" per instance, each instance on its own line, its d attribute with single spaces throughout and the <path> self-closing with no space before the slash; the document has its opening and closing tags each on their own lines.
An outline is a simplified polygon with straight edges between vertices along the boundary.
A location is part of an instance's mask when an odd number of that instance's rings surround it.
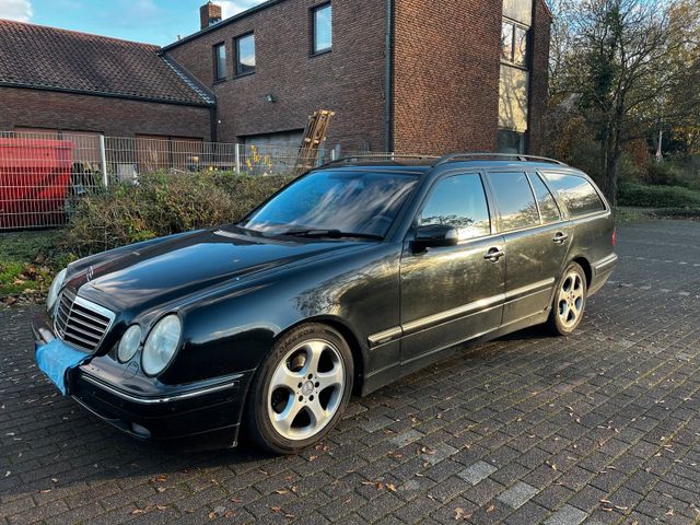
<svg viewBox="0 0 700 525">
<path fill-rule="evenodd" d="M 210 112 L 206 107 L 0 88 L 0 130 L 14 127 L 210 140 Z"/>
</svg>

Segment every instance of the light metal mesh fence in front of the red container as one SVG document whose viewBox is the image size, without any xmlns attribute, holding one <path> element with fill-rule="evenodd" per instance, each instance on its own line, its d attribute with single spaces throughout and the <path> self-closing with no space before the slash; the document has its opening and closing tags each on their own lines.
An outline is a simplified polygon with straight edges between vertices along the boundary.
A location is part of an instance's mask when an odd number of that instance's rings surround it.
<svg viewBox="0 0 700 525">
<path fill-rule="evenodd" d="M 386 152 L 345 152 L 390 159 Z M 112 184 L 145 173 L 224 171 L 241 175 L 292 175 L 340 155 L 320 150 L 205 142 L 162 137 L 0 131 L 0 231 L 66 223 L 77 202 Z"/>
</svg>

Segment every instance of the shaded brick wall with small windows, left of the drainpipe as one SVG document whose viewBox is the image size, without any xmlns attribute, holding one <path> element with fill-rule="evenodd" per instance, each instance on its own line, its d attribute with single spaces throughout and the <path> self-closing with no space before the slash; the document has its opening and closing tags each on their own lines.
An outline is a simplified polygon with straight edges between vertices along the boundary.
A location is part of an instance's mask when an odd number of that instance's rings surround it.
<svg viewBox="0 0 700 525">
<path fill-rule="evenodd" d="M 384 150 L 384 0 L 334 0 L 332 51 L 310 57 L 310 8 L 288 0 L 168 50 L 217 94 L 218 139 L 303 129 L 315 109 L 332 109 L 328 143 Z M 255 31 L 256 72 L 233 78 L 236 36 Z M 212 46 L 226 45 L 228 80 L 213 82 Z M 264 100 L 272 94 L 277 102 Z"/>
</svg>

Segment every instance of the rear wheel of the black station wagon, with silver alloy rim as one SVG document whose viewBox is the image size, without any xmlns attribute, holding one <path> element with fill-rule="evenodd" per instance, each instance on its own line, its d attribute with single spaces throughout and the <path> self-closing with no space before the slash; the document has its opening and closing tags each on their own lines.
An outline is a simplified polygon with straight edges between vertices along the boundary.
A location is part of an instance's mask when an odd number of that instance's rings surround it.
<svg viewBox="0 0 700 525">
<path fill-rule="evenodd" d="M 579 327 L 585 315 L 587 294 L 588 288 L 583 268 L 578 262 L 570 262 L 559 278 L 555 290 L 551 312 L 547 319 L 547 328 L 551 334 L 569 336 Z"/>
</svg>

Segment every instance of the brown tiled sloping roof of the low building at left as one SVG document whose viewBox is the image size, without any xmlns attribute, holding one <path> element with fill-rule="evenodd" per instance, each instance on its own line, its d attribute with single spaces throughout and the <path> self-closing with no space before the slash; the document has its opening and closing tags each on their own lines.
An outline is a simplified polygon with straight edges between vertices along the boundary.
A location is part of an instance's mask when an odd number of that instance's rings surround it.
<svg viewBox="0 0 700 525">
<path fill-rule="evenodd" d="M 150 44 L 0 20 L 0 85 L 211 106 L 213 95 Z"/>
</svg>

